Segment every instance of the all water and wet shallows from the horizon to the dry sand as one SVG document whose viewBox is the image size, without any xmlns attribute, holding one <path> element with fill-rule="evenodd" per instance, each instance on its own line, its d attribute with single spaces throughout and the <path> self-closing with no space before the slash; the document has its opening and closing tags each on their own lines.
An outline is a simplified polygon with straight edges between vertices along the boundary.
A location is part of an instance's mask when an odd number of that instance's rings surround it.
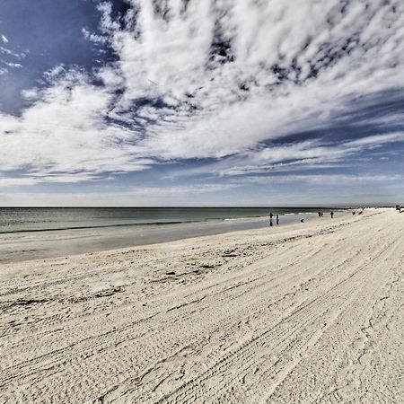
<svg viewBox="0 0 404 404">
<path fill-rule="evenodd" d="M 0 207 L 0 262 L 114 250 L 268 227 L 317 215 L 307 207 Z M 327 212 L 329 209 L 321 209 Z M 277 226 L 273 219 L 274 228 Z"/>
</svg>

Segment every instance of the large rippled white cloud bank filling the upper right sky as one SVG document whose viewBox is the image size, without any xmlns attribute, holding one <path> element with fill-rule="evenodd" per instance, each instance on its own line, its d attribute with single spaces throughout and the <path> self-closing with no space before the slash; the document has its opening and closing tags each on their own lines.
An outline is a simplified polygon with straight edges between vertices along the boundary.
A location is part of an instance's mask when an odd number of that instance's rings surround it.
<svg viewBox="0 0 404 404">
<path fill-rule="evenodd" d="M 191 1 L 181 13 L 181 3 L 169 1 L 162 18 L 151 2 L 134 0 L 133 30 L 105 17 L 126 83 L 119 108 L 143 97 L 177 107 L 144 107 L 160 119 L 143 145 L 162 158 L 223 157 L 317 127 L 347 112 L 351 97 L 403 82 L 394 44 L 404 38 L 404 6 L 392 3 L 350 3 L 342 14 L 332 0 Z M 217 31 L 232 63 L 209 53 Z M 274 66 L 287 79 L 280 82 Z"/>
</svg>

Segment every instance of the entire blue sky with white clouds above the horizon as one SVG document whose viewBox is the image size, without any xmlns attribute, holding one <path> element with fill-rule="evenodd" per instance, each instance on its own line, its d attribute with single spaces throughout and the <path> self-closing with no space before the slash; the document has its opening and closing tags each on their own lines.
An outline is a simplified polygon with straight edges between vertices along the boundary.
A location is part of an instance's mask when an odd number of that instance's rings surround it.
<svg viewBox="0 0 404 404">
<path fill-rule="evenodd" d="M 402 0 L 0 0 L 0 206 L 404 204 Z"/>
</svg>

